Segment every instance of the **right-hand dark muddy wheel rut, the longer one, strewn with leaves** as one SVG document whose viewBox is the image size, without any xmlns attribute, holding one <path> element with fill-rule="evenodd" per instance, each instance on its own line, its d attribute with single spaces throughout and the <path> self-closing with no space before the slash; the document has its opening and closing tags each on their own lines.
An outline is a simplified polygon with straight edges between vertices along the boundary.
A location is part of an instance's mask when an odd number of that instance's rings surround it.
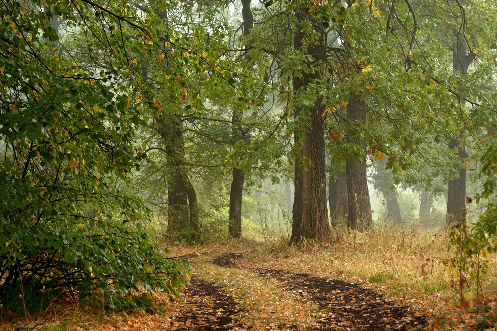
<svg viewBox="0 0 497 331">
<path fill-rule="evenodd" d="M 279 269 L 251 268 L 237 265 L 249 253 L 226 253 L 212 263 L 223 267 L 248 269 L 262 277 L 284 284 L 283 290 L 298 292 L 320 308 L 315 318 L 323 330 L 419 330 L 425 322 L 422 314 L 399 305 L 384 295 L 355 283 L 327 279 L 308 273 Z"/>
</svg>

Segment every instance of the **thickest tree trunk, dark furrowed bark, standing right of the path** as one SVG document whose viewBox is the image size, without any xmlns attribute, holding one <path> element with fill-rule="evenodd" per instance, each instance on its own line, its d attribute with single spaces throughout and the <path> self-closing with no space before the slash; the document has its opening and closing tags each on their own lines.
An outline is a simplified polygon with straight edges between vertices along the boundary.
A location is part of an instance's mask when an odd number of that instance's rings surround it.
<svg viewBox="0 0 497 331">
<path fill-rule="evenodd" d="M 293 77 L 295 94 L 301 94 L 306 93 L 308 86 L 321 77 L 322 69 L 319 66 L 326 60 L 326 49 L 323 46 L 325 36 L 319 22 L 301 11 L 297 12 L 297 17 L 301 22 L 313 20 L 320 34 L 318 45 L 307 46 L 307 54 L 313 59 L 306 63 L 307 70 Z M 302 49 L 303 39 L 306 37 L 309 36 L 304 29 L 298 29 L 294 39 L 295 49 Z M 309 88 L 315 88 L 311 86 Z M 295 107 L 295 119 L 300 122 L 300 130 L 295 134 L 295 149 L 299 150 L 300 146 L 302 149 L 301 157 L 295 161 L 292 242 L 301 239 L 323 239 L 330 235 L 326 201 L 325 126 L 322 117 L 324 108 L 322 97 L 316 98 L 314 105 L 310 107 L 300 104 Z M 302 159 L 309 160 L 310 166 L 304 168 L 300 162 Z"/>
</svg>

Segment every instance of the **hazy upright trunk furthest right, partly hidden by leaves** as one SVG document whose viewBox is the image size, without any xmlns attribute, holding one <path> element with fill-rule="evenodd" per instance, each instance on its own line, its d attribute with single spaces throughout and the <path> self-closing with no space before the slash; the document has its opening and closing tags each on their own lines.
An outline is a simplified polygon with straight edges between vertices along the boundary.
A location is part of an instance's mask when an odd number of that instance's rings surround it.
<svg viewBox="0 0 497 331">
<path fill-rule="evenodd" d="M 452 50 L 452 68 L 454 71 L 460 71 L 464 76 L 468 74 L 468 67 L 475 59 L 474 53 L 467 53 L 465 38 L 461 36 L 459 31 L 454 31 L 456 42 Z M 458 92 L 463 94 L 461 88 Z M 460 100 L 460 107 L 464 107 L 465 100 Z M 465 151 L 464 131 L 459 132 L 459 140 L 452 137 L 449 140 L 449 149 L 456 149 L 456 154 L 459 156 L 460 164 L 458 164 L 458 177 L 449 180 L 448 195 L 447 195 L 447 215 L 445 218 L 446 224 L 450 225 L 457 222 L 462 215 L 462 211 L 466 206 L 466 167 L 464 159 L 468 156 Z"/>
</svg>

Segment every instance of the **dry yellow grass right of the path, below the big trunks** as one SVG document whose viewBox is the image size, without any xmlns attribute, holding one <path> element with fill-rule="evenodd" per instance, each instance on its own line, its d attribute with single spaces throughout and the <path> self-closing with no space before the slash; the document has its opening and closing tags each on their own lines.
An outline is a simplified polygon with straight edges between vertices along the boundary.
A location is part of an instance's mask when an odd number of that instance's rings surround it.
<svg viewBox="0 0 497 331">
<path fill-rule="evenodd" d="M 448 252 L 447 230 L 419 231 L 383 227 L 373 233 L 352 233 L 334 229 L 331 241 L 297 246 L 260 247 L 252 256 L 255 263 L 274 268 L 306 272 L 329 278 L 363 283 L 401 299 L 428 314 L 443 314 L 458 297 L 443 259 Z M 497 295 L 497 259 L 490 258 L 484 281 L 487 297 Z M 470 280 L 471 283 L 471 280 Z"/>
</svg>

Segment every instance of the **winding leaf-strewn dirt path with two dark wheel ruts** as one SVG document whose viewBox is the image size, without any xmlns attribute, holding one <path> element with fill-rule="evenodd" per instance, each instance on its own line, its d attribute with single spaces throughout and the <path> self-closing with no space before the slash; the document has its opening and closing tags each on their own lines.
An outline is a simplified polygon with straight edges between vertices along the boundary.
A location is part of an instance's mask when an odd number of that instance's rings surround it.
<svg viewBox="0 0 497 331">
<path fill-rule="evenodd" d="M 204 262 L 216 266 L 217 269 L 208 269 L 205 265 L 200 268 L 207 273 L 212 273 L 213 270 L 219 273 L 219 279 L 223 280 L 226 286 L 221 287 L 215 282 L 203 280 L 194 272 L 191 284 L 183 292 L 186 305 L 181 306 L 184 311 L 176 319 L 178 329 L 410 331 L 420 330 L 425 321 L 425 317 L 413 311 L 411 307 L 400 305 L 367 287 L 308 273 L 260 267 L 247 259 L 251 253 L 253 251 L 222 253 L 214 259 L 209 254 L 204 255 L 204 258 L 207 258 Z M 195 261 L 194 255 L 188 258 L 190 261 Z M 199 267 L 195 264 L 194 262 L 194 270 Z M 230 275 L 234 273 L 233 269 L 253 274 L 258 278 L 255 280 L 244 276 L 229 280 L 229 277 L 223 278 L 223 273 Z M 260 284 L 257 279 L 277 283 L 277 291 L 269 293 L 276 299 L 279 299 L 278 295 L 282 295 L 281 293 L 286 293 L 292 301 L 290 304 L 295 304 L 297 307 L 300 307 L 302 302 L 311 303 L 313 308 L 308 308 L 309 321 L 298 324 L 281 323 L 276 313 L 278 307 L 262 306 L 272 315 L 259 317 L 264 321 L 252 320 L 247 323 L 247 318 L 243 318 L 244 315 L 247 317 L 247 314 L 243 313 L 244 301 L 240 302 L 230 287 L 236 282 L 253 282 L 255 283 L 253 286 L 258 286 Z M 251 318 L 254 319 L 253 316 Z M 270 322 L 268 319 L 274 319 L 274 323 L 268 324 Z"/>
</svg>

